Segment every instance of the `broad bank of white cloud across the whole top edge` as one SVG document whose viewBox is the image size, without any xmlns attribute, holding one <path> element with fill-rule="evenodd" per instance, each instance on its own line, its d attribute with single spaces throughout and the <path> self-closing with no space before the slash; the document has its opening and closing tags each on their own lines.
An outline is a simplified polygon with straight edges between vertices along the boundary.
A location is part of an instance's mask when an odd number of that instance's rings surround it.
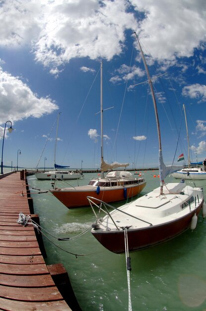
<svg viewBox="0 0 206 311">
<path fill-rule="evenodd" d="M 166 4 L 165 0 L 4 0 L 0 45 L 30 46 L 36 61 L 50 66 L 56 76 L 59 67 L 73 58 L 109 61 L 120 55 L 126 30 L 131 34 L 136 30 L 153 58 L 168 67 L 176 57 L 190 57 L 204 44 L 206 1 Z M 131 5 L 141 14 L 135 16 Z"/>
</svg>

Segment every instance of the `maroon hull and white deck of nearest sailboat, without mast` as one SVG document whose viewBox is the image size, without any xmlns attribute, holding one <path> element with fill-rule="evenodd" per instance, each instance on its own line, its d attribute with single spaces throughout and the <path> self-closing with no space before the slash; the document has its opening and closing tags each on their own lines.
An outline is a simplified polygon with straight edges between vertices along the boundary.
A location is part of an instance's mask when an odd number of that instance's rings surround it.
<svg viewBox="0 0 206 311">
<path fill-rule="evenodd" d="M 110 212 L 110 216 L 96 222 L 99 226 L 93 226 L 92 234 L 108 250 L 123 253 L 125 228 L 129 251 L 151 247 L 183 233 L 194 225 L 193 217 L 202 209 L 203 190 L 181 183 L 166 184 L 165 189 L 169 191 L 163 195 L 158 195 L 157 188 Z"/>
</svg>

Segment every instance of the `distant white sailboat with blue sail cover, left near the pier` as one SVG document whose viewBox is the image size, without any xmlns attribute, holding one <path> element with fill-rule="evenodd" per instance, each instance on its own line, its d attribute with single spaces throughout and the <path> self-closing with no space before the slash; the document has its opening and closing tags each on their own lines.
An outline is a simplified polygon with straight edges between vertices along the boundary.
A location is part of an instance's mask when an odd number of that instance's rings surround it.
<svg viewBox="0 0 206 311">
<path fill-rule="evenodd" d="M 35 176 L 39 180 L 67 180 L 67 179 L 79 179 L 82 177 L 82 172 L 74 172 L 69 170 L 63 170 L 63 168 L 69 167 L 56 164 L 56 144 L 57 144 L 57 134 L 58 134 L 58 123 L 59 123 L 59 115 L 57 115 L 57 125 L 56 125 L 56 138 L 55 138 L 55 148 L 54 148 L 54 169 L 45 172 L 36 172 Z M 58 170 L 57 170 L 58 168 Z"/>
</svg>

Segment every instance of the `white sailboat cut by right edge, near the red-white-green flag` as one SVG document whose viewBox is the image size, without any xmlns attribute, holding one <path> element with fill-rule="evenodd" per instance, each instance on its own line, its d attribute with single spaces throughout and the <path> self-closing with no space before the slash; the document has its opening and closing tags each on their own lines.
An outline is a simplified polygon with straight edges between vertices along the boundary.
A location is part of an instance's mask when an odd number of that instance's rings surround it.
<svg viewBox="0 0 206 311">
<path fill-rule="evenodd" d="M 206 171 L 200 165 L 203 165 L 203 162 L 191 163 L 190 161 L 190 141 L 188 134 L 188 126 L 187 126 L 187 117 L 185 111 L 185 105 L 183 104 L 184 114 L 185 114 L 185 123 L 186 123 L 186 131 L 187 131 L 187 141 L 188 141 L 188 167 L 182 168 L 174 173 L 172 173 L 172 177 L 180 178 L 180 179 L 206 179 Z M 191 166 L 193 165 L 193 166 Z M 196 165 L 196 166 L 194 166 Z M 197 166 L 199 165 L 199 166 Z"/>
</svg>

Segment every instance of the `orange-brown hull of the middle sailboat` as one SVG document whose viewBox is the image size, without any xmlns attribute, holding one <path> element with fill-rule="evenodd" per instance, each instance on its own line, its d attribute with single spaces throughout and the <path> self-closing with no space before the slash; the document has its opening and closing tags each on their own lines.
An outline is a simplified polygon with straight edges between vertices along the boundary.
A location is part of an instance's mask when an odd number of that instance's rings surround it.
<svg viewBox="0 0 206 311">
<path fill-rule="evenodd" d="M 123 201 L 127 198 L 132 198 L 138 195 L 146 186 L 146 182 L 141 182 L 130 186 L 116 186 L 116 187 L 100 187 L 98 194 L 97 187 L 82 186 L 69 188 L 66 191 L 63 189 L 50 190 L 51 193 L 66 207 L 77 208 L 89 206 L 88 196 L 103 200 L 106 203 Z M 125 198 L 125 190 L 126 198 Z"/>
</svg>

